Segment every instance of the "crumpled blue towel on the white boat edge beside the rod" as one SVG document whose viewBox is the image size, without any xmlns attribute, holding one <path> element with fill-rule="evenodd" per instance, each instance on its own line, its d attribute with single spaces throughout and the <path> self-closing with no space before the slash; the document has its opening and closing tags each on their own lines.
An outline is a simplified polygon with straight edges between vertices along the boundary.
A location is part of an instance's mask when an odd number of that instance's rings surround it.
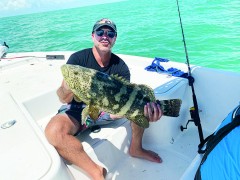
<svg viewBox="0 0 240 180">
<path fill-rule="evenodd" d="M 164 67 L 160 65 L 160 62 L 168 62 L 168 61 L 169 60 L 165 58 L 155 57 L 154 60 L 152 61 L 152 64 L 145 67 L 145 70 L 158 72 L 158 73 L 166 73 L 175 77 L 183 77 L 183 78 L 188 77 L 188 73 L 185 73 L 177 68 L 171 67 L 165 70 Z"/>
</svg>

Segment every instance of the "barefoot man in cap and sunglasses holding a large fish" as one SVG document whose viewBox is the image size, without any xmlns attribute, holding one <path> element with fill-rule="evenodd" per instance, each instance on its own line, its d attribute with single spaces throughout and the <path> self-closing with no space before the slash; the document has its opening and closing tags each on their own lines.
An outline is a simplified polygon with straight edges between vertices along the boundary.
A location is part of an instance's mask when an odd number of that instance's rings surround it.
<svg viewBox="0 0 240 180">
<path fill-rule="evenodd" d="M 130 80 L 130 72 L 122 59 L 111 52 L 117 38 L 117 28 L 109 19 L 101 19 L 95 23 L 92 30 L 93 47 L 72 54 L 68 64 L 77 64 L 87 68 L 96 69 L 107 74 L 118 74 Z M 58 153 L 70 163 L 83 169 L 92 179 L 104 179 L 106 169 L 97 165 L 84 151 L 82 143 L 74 136 L 81 131 L 81 112 L 84 103 L 76 102 L 73 93 L 63 80 L 57 90 L 59 99 L 68 104 L 67 110 L 54 116 L 45 129 L 48 141 L 56 148 Z M 148 103 L 144 107 L 144 114 L 150 122 L 160 119 L 162 111 L 155 103 Z M 110 115 L 111 119 L 121 117 Z M 132 140 L 129 154 L 133 157 L 147 159 L 161 163 L 162 160 L 155 152 L 142 148 L 144 129 L 131 123 Z"/>
</svg>

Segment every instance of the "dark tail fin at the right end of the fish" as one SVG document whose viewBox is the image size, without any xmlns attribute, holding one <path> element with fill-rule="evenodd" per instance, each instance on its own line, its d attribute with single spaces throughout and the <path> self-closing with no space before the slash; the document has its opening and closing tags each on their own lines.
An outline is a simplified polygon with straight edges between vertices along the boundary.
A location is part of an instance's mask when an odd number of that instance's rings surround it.
<svg viewBox="0 0 240 180">
<path fill-rule="evenodd" d="M 182 100 L 181 99 L 169 99 L 169 100 L 157 100 L 156 101 L 163 112 L 164 116 L 178 117 Z"/>
</svg>

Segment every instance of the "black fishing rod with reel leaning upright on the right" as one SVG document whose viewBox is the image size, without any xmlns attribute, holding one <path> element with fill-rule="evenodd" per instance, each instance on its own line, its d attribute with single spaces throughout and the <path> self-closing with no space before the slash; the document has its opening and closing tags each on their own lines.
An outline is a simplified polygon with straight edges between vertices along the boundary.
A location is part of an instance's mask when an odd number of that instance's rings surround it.
<svg viewBox="0 0 240 180">
<path fill-rule="evenodd" d="M 192 73 L 191 73 L 191 68 L 190 68 L 190 63 L 189 63 L 189 58 L 188 58 L 188 52 L 187 52 L 187 45 L 186 45 L 186 40 L 185 40 L 185 36 L 184 36 L 184 31 L 183 31 L 183 25 L 182 25 L 182 19 L 181 19 L 181 13 L 180 13 L 180 8 L 179 8 L 179 4 L 178 4 L 178 0 L 177 1 L 177 7 L 178 7 L 178 16 L 179 16 L 179 21 L 180 21 L 180 25 L 181 25 L 181 30 L 182 30 L 182 37 L 183 37 L 183 44 L 184 44 L 184 50 L 185 50 L 185 55 L 186 55 L 186 59 L 187 59 L 187 66 L 188 66 L 188 83 L 189 86 L 192 89 L 192 98 L 193 98 L 193 107 L 190 109 L 190 114 L 191 114 L 191 118 L 192 120 L 189 120 L 187 122 L 187 125 L 190 121 L 193 121 L 194 124 L 198 127 L 198 134 L 199 134 L 199 139 L 200 139 L 200 144 L 202 144 L 204 142 L 204 137 L 203 137 L 203 132 L 202 132 L 202 125 L 201 125 L 201 121 L 200 121 L 200 116 L 199 116 L 199 109 L 198 109 L 198 103 L 197 103 L 197 97 L 195 94 L 195 90 L 194 90 L 194 78 L 192 77 Z M 181 130 L 183 131 L 184 129 L 187 129 L 187 125 L 186 128 L 181 126 Z"/>
</svg>

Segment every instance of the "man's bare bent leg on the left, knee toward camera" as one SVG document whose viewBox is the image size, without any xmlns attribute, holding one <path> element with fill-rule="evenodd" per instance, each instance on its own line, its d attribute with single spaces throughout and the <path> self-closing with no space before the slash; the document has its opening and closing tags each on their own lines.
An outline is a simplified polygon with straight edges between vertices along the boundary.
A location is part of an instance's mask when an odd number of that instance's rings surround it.
<svg viewBox="0 0 240 180">
<path fill-rule="evenodd" d="M 57 114 L 48 123 L 45 135 L 64 159 L 86 171 L 93 179 L 104 179 L 106 169 L 94 163 L 84 151 L 82 143 L 73 136 L 78 129 L 78 121 L 66 114 Z"/>
</svg>

